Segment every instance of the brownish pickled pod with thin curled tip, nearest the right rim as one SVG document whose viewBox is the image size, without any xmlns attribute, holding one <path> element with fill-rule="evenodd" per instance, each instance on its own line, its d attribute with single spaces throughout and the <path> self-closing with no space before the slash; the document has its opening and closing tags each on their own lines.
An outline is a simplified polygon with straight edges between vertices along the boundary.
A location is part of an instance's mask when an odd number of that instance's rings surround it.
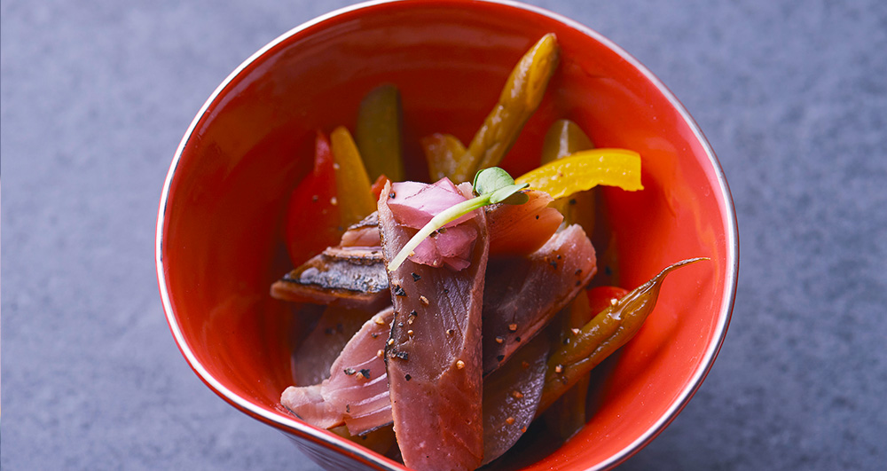
<svg viewBox="0 0 887 471">
<path fill-rule="evenodd" d="M 644 320 L 653 312 L 666 275 L 700 260 L 708 259 L 690 258 L 666 267 L 653 279 L 602 310 L 577 334 L 569 337 L 569 342 L 561 342 L 548 357 L 546 385 L 542 389 L 538 411 L 544 412 L 585 373 L 592 371 L 610 354 L 632 340 Z"/>
</svg>

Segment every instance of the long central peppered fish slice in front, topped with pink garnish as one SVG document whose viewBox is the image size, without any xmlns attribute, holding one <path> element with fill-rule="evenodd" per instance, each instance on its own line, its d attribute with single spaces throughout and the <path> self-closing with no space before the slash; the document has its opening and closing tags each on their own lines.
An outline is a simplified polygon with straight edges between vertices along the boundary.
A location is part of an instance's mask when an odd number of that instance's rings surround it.
<svg viewBox="0 0 887 471">
<path fill-rule="evenodd" d="M 387 185 L 379 200 L 386 263 L 416 233 L 396 223 L 389 193 Z M 478 234 L 466 269 L 434 268 L 408 259 L 389 272 L 396 312 L 385 350 L 391 409 L 404 463 L 415 469 L 475 469 L 483 460 L 486 217 L 478 214 L 464 224 Z"/>
</svg>

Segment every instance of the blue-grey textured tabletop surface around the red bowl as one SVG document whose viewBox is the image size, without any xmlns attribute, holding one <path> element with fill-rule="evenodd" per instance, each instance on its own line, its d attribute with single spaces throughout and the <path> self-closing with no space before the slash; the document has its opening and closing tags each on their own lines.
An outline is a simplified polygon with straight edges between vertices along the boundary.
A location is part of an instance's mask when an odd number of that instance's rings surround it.
<svg viewBox="0 0 887 471">
<path fill-rule="evenodd" d="M 203 101 L 346 1 L 2 0 L 2 467 L 317 467 L 185 364 L 153 267 L 157 200 Z M 537 0 L 658 75 L 739 213 L 707 381 L 624 469 L 887 463 L 887 3 Z"/>
</svg>

